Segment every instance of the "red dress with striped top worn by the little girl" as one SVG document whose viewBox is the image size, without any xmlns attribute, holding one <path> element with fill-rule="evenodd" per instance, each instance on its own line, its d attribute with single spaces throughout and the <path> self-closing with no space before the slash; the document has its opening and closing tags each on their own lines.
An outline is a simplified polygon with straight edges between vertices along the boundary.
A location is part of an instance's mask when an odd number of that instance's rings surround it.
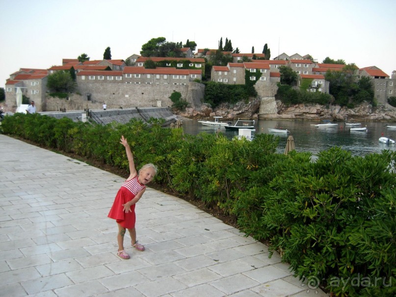
<svg viewBox="0 0 396 297">
<path fill-rule="evenodd" d="M 135 205 L 131 205 L 131 212 L 125 213 L 123 204 L 131 201 L 138 192 L 146 186 L 139 183 L 137 176 L 129 181 L 125 181 L 115 196 L 113 206 L 108 213 L 108 217 L 113 218 L 126 229 L 135 227 Z"/>
</svg>

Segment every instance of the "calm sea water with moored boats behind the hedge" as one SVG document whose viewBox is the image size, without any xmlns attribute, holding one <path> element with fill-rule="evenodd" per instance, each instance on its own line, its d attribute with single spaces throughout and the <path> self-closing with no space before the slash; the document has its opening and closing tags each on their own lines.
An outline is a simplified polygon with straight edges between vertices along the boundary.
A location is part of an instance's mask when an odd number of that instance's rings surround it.
<svg viewBox="0 0 396 297">
<path fill-rule="evenodd" d="M 227 121 L 228 122 L 228 121 Z M 235 123 L 235 121 L 233 121 Z M 368 132 L 349 131 L 351 126 L 345 126 L 343 122 L 338 123 L 335 128 L 317 128 L 311 124 L 322 124 L 318 121 L 302 121 L 302 120 L 258 120 L 255 123 L 256 132 L 269 134 L 270 129 L 287 129 L 290 134 L 273 134 L 280 137 L 278 153 L 285 151 L 287 138 L 292 135 L 294 138 L 295 149 L 297 152 L 311 152 L 314 156 L 318 152 L 327 150 L 333 146 L 340 146 L 344 150 L 348 150 L 354 156 L 364 156 L 369 153 L 380 153 L 383 149 L 396 150 L 395 144 L 389 146 L 378 141 L 381 136 L 389 137 L 396 140 L 396 129 L 387 129 L 384 127 L 387 123 L 378 122 L 360 122 L 360 127 L 367 127 Z M 396 126 L 396 123 L 388 123 Z M 215 133 L 218 128 L 203 126 L 196 120 L 183 121 L 183 130 L 186 134 L 197 135 L 201 132 Z M 228 138 L 238 135 L 237 131 L 226 131 L 225 128 L 220 128 L 221 132 L 227 135 Z"/>
</svg>

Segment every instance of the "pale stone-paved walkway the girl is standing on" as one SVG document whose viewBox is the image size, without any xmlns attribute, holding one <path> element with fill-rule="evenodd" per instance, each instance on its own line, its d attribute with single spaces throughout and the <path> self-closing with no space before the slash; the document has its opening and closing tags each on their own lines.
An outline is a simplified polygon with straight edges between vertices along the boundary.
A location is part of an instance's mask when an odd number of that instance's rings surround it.
<svg viewBox="0 0 396 297">
<path fill-rule="evenodd" d="M 136 205 L 146 250 L 128 235 L 122 260 L 107 213 L 124 178 L 5 135 L 0 158 L 0 296 L 327 296 L 264 244 L 154 189 Z"/>
</svg>

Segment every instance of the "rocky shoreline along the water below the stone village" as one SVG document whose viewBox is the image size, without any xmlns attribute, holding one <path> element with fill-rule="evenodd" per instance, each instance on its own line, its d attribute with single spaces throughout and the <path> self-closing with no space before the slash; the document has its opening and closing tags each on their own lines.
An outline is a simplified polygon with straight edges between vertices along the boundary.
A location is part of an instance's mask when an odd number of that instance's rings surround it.
<svg viewBox="0 0 396 297">
<path fill-rule="evenodd" d="M 207 104 L 200 107 L 186 108 L 185 111 L 174 111 L 180 117 L 190 119 L 210 119 L 213 116 L 222 116 L 225 120 L 237 118 L 251 119 L 284 119 L 284 120 L 331 120 L 331 121 L 372 121 L 396 122 L 396 108 L 387 104 L 373 107 L 363 103 L 355 108 L 346 108 L 337 105 L 324 106 L 319 104 L 296 104 L 285 106 L 276 100 L 276 113 L 259 114 L 261 101 L 255 99 L 249 103 L 239 102 L 235 105 L 222 104 L 211 108 Z"/>
</svg>

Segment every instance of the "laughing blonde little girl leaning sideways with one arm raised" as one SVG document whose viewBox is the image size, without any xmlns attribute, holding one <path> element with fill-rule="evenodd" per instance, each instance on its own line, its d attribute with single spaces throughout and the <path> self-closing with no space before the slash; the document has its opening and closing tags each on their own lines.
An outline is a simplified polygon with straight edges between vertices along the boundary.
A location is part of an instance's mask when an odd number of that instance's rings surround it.
<svg viewBox="0 0 396 297">
<path fill-rule="evenodd" d="M 144 246 L 136 241 L 135 204 L 142 197 L 146 190 L 146 185 L 150 183 L 157 174 L 157 167 L 150 163 L 143 165 L 139 172 L 136 172 L 132 151 L 124 135 L 121 136 L 120 143 L 125 146 L 131 174 L 118 190 L 108 217 L 114 218 L 118 225 L 117 254 L 121 259 L 129 259 L 130 256 L 124 250 L 124 235 L 126 229 L 128 229 L 131 235 L 132 246 L 139 251 L 144 251 Z"/>
</svg>

